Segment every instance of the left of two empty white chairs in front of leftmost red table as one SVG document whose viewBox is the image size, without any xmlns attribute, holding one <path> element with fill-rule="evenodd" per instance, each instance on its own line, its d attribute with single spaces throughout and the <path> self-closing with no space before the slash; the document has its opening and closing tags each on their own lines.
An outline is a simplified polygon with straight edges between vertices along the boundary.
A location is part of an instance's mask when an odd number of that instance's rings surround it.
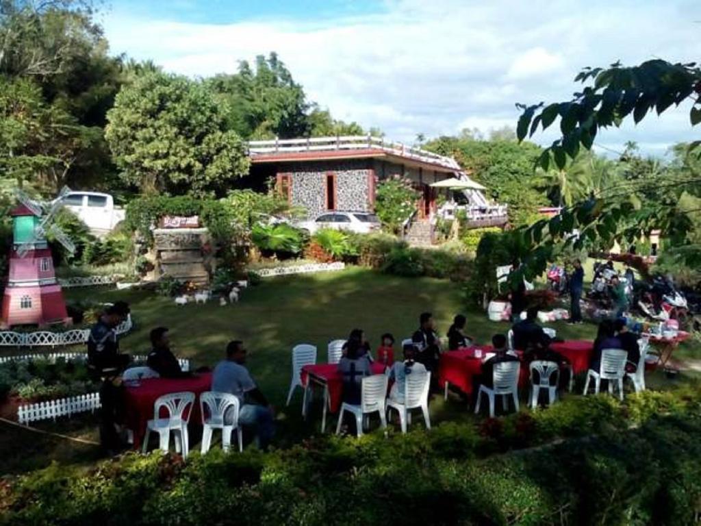
<svg viewBox="0 0 701 526">
<path fill-rule="evenodd" d="M 170 432 L 172 431 L 175 440 L 175 451 L 179 453 L 182 450 L 182 456 L 186 458 L 189 453 L 187 424 L 190 421 L 194 403 L 195 393 L 189 391 L 170 393 L 156 398 L 156 402 L 154 402 L 154 419 L 149 420 L 146 424 L 146 436 L 144 437 L 142 452 L 145 453 L 149 449 L 151 431 L 158 433 L 161 450 L 168 452 Z M 167 418 L 160 417 L 162 407 L 165 407 L 168 411 Z M 184 417 L 186 413 L 187 416 Z"/>
</svg>

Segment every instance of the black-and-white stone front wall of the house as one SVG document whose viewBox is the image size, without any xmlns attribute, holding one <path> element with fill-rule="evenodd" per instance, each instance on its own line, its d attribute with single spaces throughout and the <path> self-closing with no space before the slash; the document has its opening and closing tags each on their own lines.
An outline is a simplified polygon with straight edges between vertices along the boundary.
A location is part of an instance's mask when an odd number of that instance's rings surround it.
<svg viewBox="0 0 701 526">
<path fill-rule="evenodd" d="M 310 219 L 327 211 L 326 177 L 330 173 L 336 175 L 336 210 L 372 208 L 368 195 L 372 161 L 367 159 L 287 163 L 279 166 L 280 173 L 291 176 L 292 204 L 306 208 Z"/>
</svg>

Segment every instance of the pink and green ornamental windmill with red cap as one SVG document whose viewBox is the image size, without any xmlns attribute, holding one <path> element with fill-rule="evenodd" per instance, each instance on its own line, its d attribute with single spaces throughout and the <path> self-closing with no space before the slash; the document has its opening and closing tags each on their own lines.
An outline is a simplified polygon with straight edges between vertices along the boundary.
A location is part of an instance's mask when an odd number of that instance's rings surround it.
<svg viewBox="0 0 701 526">
<path fill-rule="evenodd" d="M 69 191 L 64 188 L 61 195 Z M 55 224 L 49 227 L 60 208 L 60 198 L 53 204 L 32 201 L 22 191 L 16 192 L 20 205 L 11 211 L 13 245 L 2 304 L 0 325 L 70 325 L 61 285 L 56 280 L 51 250 L 46 243 L 50 233 L 66 250 L 73 252 L 72 241 Z M 46 210 L 46 213 L 44 212 Z"/>
</svg>

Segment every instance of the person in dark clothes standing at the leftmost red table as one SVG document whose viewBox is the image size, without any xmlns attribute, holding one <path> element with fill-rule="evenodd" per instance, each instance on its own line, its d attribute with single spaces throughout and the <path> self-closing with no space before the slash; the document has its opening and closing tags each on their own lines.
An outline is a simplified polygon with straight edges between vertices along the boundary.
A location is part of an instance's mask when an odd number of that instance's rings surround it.
<svg viewBox="0 0 701 526">
<path fill-rule="evenodd" d="M 124 417 L 124 396 L 121 372 L 129 365 L 131 356 L 119 352 L 117 327 L 127 320 L 129 304 L 115 302 L 107 307 L 88 336 L 88 369 L 100 386 L 100 445 L 107 454 L 123 449 L 119 436 Z"/>
</svg>

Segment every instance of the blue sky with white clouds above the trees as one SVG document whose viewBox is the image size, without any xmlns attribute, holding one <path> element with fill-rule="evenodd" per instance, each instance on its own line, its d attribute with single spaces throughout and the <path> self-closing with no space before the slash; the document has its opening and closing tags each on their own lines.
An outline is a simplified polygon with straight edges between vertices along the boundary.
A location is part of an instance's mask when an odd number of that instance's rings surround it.
<svg viewBox="0 0 701 526">
<path fill-rule="evenodd" d="M 271 51 L 336 119 L 393 140 L 515 128 L 516 102 L 560 102 L 585 66 L 701 59 L 691 0 L 111 0 L 100 14 L 112 53 L 168 72 L 236 72 Z M 603 130 L 613 155 L 632 140 L 664 156 L 696 140 L 689 106 Z M 550 144 L 557 130 L 535 142 Z"/>
</svg>

